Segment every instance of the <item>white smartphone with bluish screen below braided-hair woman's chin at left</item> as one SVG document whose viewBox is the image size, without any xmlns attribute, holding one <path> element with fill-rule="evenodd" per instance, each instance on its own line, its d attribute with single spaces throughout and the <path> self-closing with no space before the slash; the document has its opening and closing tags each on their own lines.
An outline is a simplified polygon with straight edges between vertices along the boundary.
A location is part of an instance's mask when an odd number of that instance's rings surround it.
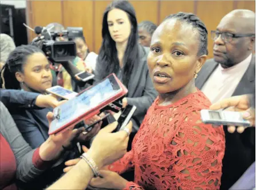
<svg viewBox="0 0 256 190">
<path fill-rule="evenodd" d="M 54 94 L 65 100 L 70 100 L 78 94 L 76 92 L 63 88 L 62 86 L 53 86 L 52 88 L 46 89 L 46 92 Z"/>
</svg>

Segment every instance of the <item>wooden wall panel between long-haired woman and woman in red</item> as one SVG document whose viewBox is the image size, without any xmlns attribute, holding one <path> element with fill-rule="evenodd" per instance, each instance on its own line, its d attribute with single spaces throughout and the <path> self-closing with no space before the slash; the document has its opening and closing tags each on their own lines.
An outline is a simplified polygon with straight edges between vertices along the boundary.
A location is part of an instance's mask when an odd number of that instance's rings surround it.
<svg viewBox="0 0 256 190">
<path fill-rule="evenodd" d="M 130 1 L 136 11 L 137 22 L 151 21 L 158 24 L 158 1 Z"/>
</svg>

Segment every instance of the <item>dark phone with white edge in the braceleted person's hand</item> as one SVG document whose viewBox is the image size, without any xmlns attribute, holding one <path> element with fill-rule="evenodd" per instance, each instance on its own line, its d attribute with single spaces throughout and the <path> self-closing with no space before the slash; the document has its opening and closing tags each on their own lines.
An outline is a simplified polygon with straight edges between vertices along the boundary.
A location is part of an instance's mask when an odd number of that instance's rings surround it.
<svg viewBox="0 0 256 190">
<path fill-rule="evenodd" d="M 126 125 L 128 125 L 129 121 L 132 118 L 133 113 L 136 110 L 136 106 L 135 105 L 127 105 L 124 109 L 123 112 L 121 113 L 121 115 L 119 116 L 117 122 L 118 125 L 116 127 L 115 130 L 113 130 L 113 132 L 117 132 L 119 130 L 122 130 L 125 128 Z"/>
</svg>

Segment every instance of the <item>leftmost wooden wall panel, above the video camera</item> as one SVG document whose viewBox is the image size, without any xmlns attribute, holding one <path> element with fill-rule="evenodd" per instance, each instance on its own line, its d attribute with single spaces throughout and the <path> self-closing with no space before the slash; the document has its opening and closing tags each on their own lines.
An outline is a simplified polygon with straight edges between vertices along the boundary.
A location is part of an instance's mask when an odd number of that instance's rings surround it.
<svg viewBox="0 0 256 190">
<path fill-rule="evenodd" d="M 30 23 L 29 26 L 34 29 L 36 26 L 46 26 L 52 22 L 62 23 L 61 1 L 30 1 Z M 30 32 L 31 39 L 36 37 Z"/>
</svg>

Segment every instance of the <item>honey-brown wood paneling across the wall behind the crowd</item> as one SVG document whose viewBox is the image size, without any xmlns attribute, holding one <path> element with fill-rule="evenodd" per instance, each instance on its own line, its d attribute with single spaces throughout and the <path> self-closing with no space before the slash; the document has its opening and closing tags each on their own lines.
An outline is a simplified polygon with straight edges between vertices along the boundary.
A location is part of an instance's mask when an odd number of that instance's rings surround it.
<svg viewBox="0 0 256 190">
<path fill-rule="evenodd" d="M 105 8 L 112 1 L 27 1 L 28 25 L 45 26 L 58 22 L 84 28 L 90 50 L 98 53 Z M 206 24 L 209 58 L 212 57 L 210 31 L 215 30 L 222 17 L 233 9 L 255 11 L 255 1 L 130 1 L 135 7 L 138 23 L 149 20 L 159 25 L 170 14 L 179 11 L 194 13 Z M 29 31 L 29 41 L 35 35 Z"/>
</svg>

